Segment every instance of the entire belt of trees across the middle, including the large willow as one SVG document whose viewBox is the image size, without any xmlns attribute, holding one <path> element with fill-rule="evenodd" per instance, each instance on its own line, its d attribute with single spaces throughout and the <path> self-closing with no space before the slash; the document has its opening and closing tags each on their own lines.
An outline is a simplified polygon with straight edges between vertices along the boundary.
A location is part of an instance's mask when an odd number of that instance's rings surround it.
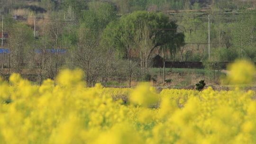
<svg viewBox="0 0 256 144">
<path fill-rule="evenodd" d="M 208 60 L 205 15 L 135 11 L 119 16 L 119 8 L 111 2 L 55 2 L 41 0 L 52 12 L 34 12 L 27 18 L 34 21 L 36 15 L 36 37 L 33 24 L 15 21 L 10 15 L 4 18 L 4 31 L 9 34 L 6 47 L 11 53 L 0 54 L 3 76 L 37 73 L 35 80 L 41 84 L 46 78 L 55 79 L 60 68 L 79 67 L 88 86 L 99 81 L 105 85 L 110 79 L 130 84 L 148 74 L 155 54 L 170 61 Z M 255 11 L 242 9 L 232 18 L 218 15 L 215 9 L 209 12 L 212 61 L 241 56 L 256 60 Z"/>
</svg>

